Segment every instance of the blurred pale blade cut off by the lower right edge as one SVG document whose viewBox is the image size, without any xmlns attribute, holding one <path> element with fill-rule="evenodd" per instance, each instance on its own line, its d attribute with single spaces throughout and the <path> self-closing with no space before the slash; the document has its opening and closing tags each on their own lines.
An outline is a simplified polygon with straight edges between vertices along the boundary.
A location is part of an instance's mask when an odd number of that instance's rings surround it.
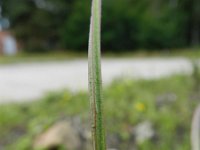
<svg viewBox="0 0 200 150">
<path fill-rule="evenodd" d="M 192 150 L 200 150 L 200 105 L 194 112 L 191 129 Z"/>
</svg>

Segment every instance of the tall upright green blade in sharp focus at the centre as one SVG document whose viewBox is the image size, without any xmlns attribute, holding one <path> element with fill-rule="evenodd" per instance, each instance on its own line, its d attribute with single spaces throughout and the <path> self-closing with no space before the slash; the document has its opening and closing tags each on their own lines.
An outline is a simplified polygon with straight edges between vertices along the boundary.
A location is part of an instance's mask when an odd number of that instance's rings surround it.
<svg viewBox="0 0 200 150">
<path fill-rule="evenodd" d="M 102 113 L 101 79 L 101 0 L 92 0 L 89 34 L 89 92 L 92 114 L 92 137 L 94 150 L 106 150 Z"/>
</svg>

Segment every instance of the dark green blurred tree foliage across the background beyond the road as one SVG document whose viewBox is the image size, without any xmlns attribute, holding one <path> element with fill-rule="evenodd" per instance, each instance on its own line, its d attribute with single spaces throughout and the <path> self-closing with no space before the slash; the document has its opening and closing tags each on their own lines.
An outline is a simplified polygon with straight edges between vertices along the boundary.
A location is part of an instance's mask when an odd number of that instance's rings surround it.
<svg viewBox="0 0 200 150">
<path fill-rule="evenodd" d="M 105 0 L 102 47 L 162 49 L 200 43 L 199 0 Z M 90 0 L 2 0 L 27 51 L 86 50 Z"/>
</svg>

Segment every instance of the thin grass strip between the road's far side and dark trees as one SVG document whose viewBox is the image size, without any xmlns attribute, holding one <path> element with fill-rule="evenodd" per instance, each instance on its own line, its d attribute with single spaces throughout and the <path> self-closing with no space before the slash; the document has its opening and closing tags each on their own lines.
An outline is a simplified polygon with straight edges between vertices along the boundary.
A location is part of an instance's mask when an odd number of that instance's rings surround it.
<svg viewBox="0 0 200 150">
<path fill-rule="evenodd" d="M 130 52 L 121 51 L 119 53 L 103 50 L 104 58 L 148 58 L 148 57 L 186 57 L 189 59 L 200 58 L 200 48 L 197 49 L 172 49 L 172 50 L 136 50 Z M 87 58 L 86 52 L 50 52 L 50 53 L 19 53 L 16 56 L 0 56 L 0 64 L 64 61 L 77 58 Z"/>
</svg>

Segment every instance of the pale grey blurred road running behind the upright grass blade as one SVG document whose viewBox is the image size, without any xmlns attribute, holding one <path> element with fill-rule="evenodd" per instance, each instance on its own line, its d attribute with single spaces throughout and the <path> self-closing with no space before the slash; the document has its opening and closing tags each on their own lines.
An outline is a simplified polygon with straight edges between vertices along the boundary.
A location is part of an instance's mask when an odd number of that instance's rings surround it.
<svg viewBox="0 0 200 150">
<path fill-rule="evenodd" d="M 104 59 L 102 64 L 105 84 L 121 76 L 152 79 L 191 70 L 190 61 L 184 58 Z M 0 103 L 30 101 L 63 88 L 86 90 L 87 78 L 85 59 L 1 65 Z"/>
</svg>

